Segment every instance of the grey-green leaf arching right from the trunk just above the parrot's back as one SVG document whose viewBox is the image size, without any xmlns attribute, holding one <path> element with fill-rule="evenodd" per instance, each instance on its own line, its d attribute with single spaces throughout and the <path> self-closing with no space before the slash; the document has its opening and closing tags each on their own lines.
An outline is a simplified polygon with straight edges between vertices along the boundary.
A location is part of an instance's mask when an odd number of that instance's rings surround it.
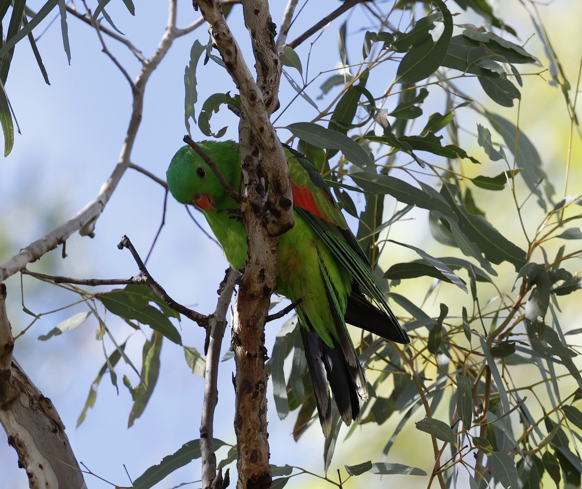
<svg viewBox="0 0 582 489">
<path fill-rule="evenodd" d="M 374 160 L 367 154 L 356 141 L 338 131 L 331 131 L 318 124 L 310 122 L 297 122 L 290 124 L 286 129 L 309 144 L 318 148 L 339 149 L 343 155 L 356 166 L 364 169 L 374 167 Z"/>
</svg>

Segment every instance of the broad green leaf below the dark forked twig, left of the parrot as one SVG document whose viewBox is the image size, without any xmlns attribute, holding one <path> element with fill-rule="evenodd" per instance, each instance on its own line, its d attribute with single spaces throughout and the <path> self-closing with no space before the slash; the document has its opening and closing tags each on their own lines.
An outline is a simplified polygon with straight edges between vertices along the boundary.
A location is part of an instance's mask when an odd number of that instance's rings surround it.
<svg viewBox="0 0 582 489">
<path fill-rule="evenodd" d="M 127 285 L 125 289 L 115 289 L 96 297 L 115 315 L 124 319 L 134 319 L 149 324 L 152 329 L 162 333 L 168 340 L 182 344 L 182 337 L 168 317 L 149 302 L 155 302 L 155 295 L 147 285 Z M 158 296 L 155 298 L 159 300 Z"/>
</svg>

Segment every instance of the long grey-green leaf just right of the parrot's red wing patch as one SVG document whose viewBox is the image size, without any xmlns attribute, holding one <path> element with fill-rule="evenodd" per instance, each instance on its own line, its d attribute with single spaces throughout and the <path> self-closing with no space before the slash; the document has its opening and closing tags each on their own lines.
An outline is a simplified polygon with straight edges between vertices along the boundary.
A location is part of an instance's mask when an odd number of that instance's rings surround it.
<svg viewBox="0 0 582 489">
<path fill-rule="evenodd" d="M 372 174 L 366 172 L 350 173 L 350 178 L 361 188 L 375 194 L 392 195 L 399 202 L 416 205 L 429 210 L 438 210 L 445 216 L 453 216 L 449 205 L 442 198 L 428 194 L 404 180 L 384 174 Z"/>
</svg>

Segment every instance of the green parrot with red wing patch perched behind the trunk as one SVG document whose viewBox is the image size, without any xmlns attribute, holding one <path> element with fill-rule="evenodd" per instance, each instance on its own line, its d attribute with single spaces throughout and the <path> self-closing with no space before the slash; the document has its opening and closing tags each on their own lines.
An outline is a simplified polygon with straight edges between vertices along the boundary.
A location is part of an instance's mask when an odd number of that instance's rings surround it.
<svg viewBox="0 0 582 489">
<path fill-rule="evenodd" d="M 238 189 L 238 145 L 233 141 L 202 141 L 198 145 L 232 188 Z M 346 424 L 359 416 L 359 398 L 368 398 L 367 381 L 346 323 L 399 343 L 410 340 L 392 314 L 364 250 L 347 227 L 320 172 L 292 148 L 285 146 L 285 153 L 295 225 L 279 240 L 276 292 L 293 302 L 301 299 L 296 308 L 301 338 L 327 437 L 332 428 L 329 387 Z M 172 158 L 166 177 L 176 200 L 202 211 L 230 265 L 235 270 L 243 268 L 246 230 L 236 216 L 236 202 L 210 167 L 192 148 L 184 146 Z"/>
</svg>

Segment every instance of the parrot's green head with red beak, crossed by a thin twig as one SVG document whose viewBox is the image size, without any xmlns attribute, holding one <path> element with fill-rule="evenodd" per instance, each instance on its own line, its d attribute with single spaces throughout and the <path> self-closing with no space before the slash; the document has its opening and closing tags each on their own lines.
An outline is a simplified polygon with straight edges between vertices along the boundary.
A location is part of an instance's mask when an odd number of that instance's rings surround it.
<svg viewBox="0 0 582 489">
<path fill-rule="evenodd" d="M 232 141 L 201 141 L 198 143 L 210 156 L 228 183 L 238 187 L 240 156 Z M 182 204 L 193 204 L 201 210 L 215 210 L 215 201 L 226 192 L 212 169 L 189 146 L 180 148 L 172 158 L 166 180 L 173 197 Z"/>
</svg>

